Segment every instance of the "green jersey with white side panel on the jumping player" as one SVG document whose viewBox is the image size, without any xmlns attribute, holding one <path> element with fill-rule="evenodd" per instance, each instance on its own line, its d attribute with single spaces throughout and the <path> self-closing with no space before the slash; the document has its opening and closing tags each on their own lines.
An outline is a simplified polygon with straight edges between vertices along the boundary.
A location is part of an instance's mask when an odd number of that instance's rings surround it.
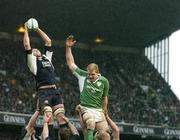
<svg viewBox="0 0 180 140">
<path fill-rule="evenodd" d="M 109 82 L 99 75 L 95 82 L 91 82 L 87 78 L 87 71 L 76 68 L 73 73 L 79 82 L 80 104 L 90 108 L 102 108 L 102 97 L 108 96 Z"/>
</svg>

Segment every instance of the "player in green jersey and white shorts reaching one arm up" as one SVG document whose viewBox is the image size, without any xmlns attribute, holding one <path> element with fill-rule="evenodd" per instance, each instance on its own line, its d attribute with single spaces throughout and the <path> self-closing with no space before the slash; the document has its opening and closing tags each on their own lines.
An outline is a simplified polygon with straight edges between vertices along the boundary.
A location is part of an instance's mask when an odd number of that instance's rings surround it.
<svg viewBox="0 0 180 140">
<path fill-rule="evenodd" d="M 87 71 L 80 69 L 74 62 L 72 47 L 76 43 L 73 36 L 66 40 L 66 61 L 69 69 L 78 78 L 82 119 L 87 132 L 85 140 L 93 139 L 94 129 L 101 133 L 103 140 L 109 140 L 107 113 L 109 82 L 101 76 L 98 65 L 91 63 Z"/>
</svg>

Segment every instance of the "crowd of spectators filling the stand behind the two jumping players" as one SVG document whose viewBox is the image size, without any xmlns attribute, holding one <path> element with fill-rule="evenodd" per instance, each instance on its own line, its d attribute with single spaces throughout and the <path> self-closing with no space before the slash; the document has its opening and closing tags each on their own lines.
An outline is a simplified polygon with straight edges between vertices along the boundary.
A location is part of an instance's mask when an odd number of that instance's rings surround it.
<svg viewBox="0 0 180 140">
<path fill-rule="evenodd" d="M 0 40 L 0 111 L 32 113 L 36 89 L 26 66 L 22 42 Z M 180 127 L 180 103 L 170 86 L 142 54 L 74 48 L 76 63 L 99 65 L 110 82 L 109 115 L 117 122 Z M 65 49 L 55 46 L 58 87 L 67 116 L 76 117 L 79 89 L 65 62 Z"/>
</svg>

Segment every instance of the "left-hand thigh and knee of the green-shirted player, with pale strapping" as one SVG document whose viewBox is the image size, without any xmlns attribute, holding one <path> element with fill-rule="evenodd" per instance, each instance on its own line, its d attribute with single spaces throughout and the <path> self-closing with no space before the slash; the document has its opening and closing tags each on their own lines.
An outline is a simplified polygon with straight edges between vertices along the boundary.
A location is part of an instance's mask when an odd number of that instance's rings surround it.
<svg viewBox="0 0 180 140">
<path fill-rule="evenodd" d="M 83 114 L 83 121 L 87 128 L 95 128 L 95 121 L 90 113 Z"/>
</svg>

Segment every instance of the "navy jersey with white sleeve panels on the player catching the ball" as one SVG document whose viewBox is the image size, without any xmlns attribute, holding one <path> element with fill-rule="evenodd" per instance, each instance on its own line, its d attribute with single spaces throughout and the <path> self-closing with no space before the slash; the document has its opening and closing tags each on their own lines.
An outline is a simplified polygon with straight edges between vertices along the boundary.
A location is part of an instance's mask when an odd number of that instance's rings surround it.
<svg viewBox="0 0 180 140">
<path fill-rule="evenodd" d="M 27 65 L 36 79 L 37 89 L 45 85 L 56 84 L 51 47 L 45 47 L 45 54 L 41 57 L 33 55 L 32 50 L 27 51 Z"/>
</svg>

